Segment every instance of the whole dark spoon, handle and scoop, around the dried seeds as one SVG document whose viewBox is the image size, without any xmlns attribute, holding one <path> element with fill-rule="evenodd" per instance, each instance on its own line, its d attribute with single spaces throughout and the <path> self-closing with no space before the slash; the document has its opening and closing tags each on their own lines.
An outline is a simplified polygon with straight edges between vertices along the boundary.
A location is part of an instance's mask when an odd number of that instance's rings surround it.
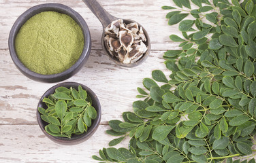
<svg viewBox="0 0 256 163">
<path fill-rule="evenodd" d="M 110 52 L 108 52 L 108 49 L 106 48 L 106 45 L 104 43 L 104 37 L 106 35 L 105 29 L 114 20 L 118 20 L 118 19 L 122 19 L 122 18 L 116 18 L 115 16 L 112 16 L 111 14 L 109 14 L 96 0 L 83 0 L 83 1 L 87 5 L 87 7 L 89 7 L 91 12 L 93 12 L 93 14 L 95 14 L 95 16 L 99 19 L 99 21 L 102 24 L 103 32 L 102 32 L 102 36 L 101 36 L 101 46 L 102 46 L 105 54 L 107 54 L 110 57 L 110 60 L 114 61 L 117 65 L 120 65 L 123 67 L 136 67 L 136 66 L 142 64 L 142 62 L 144 62 L 146 60 L 146 58 L 148 58 L 148 56 L 150 54 L 150 50 L 151 50 L 150 38 L 149 38 L 146 30 L 144 29 L 144 27 L 138 22 L 136 22 L 136 23 L 138 24 L 138 26 L 142 27 L 142 30 L 146 37 L 145 44 L 146 44 L 146 47 L 148 48 L 148 50 L 143 54 L 143 56 L 139 60 L 137 60 L 136 62 L 133 62 L 133 63 L 129 63 L 129 64 L 120 62 L 118 60 L 118 58 L 112 56 L 112 54 L 110 54 Z M 134 20 L 130 20 L 130 19 L 122 19 L 122 20 L 123 20 L 123 22 L 125 22 L 125 24 L 135 22 Z"/>
</svg>

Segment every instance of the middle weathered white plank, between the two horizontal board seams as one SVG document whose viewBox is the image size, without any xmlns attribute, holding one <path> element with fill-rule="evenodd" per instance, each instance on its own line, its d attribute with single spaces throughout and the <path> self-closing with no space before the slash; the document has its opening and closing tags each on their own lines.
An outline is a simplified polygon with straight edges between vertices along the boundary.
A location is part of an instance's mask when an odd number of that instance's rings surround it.
<svg viewBox="0 0 256 163">
<path fill-rule="evenodd" d="M 16 69 L 7 50 L 0 50 L 0 124 L 37 124 L 35 111 L 39 98 L 55 84 L 35 82 Z M 142 65 L 119 67 L 101 50 L 92 50 L 86 65 L 65 82 L 89 86 L 99 97 L 101 124 L 121 119 L 123 111 L 132 111 L 133 101 L 142 87 L 143 77 L 151 77 L 154 69 L 166 69 L 162 51 L 153 51 Z M 168 71 L 166 71 L 168 75 Z"/>
</svg>

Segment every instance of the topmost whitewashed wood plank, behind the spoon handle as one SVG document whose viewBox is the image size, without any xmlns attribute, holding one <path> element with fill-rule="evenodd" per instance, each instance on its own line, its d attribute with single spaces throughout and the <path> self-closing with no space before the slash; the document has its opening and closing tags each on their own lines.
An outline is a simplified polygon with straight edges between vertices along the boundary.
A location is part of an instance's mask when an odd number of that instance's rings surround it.
<svg viewBox="0 0 256 163">
<path fill-rule="evenodd" d="M 42 3 L 63 3 L 78 12 L 86 21 L 91 31 L 92 48 L 101 50 L 102 26 L 97 18 L 92 14 L 82 0 L 63 1 L 63 0 L 41 0 L 41 1 L 19 1 L 19 0 L 1 0 L 0 1 L 0 49 L 7 49 L 7 39 L 10 29 L 15 20 L 25 12 L 29 7 Z M 167 50 L 170 48 L 170 39 L 168 35 L 177 31 L 173 26 L 167 25 L 165 14 L 169 11 L 161 10 L 162 5 L 170 5 L 168 0 L 100 0 L 99 3 L 106 8 L 110 14 L 118 18 L 129 18 L 140 22 L 148 31 L 152 41 L 153 50 Z"/>
</svg>

